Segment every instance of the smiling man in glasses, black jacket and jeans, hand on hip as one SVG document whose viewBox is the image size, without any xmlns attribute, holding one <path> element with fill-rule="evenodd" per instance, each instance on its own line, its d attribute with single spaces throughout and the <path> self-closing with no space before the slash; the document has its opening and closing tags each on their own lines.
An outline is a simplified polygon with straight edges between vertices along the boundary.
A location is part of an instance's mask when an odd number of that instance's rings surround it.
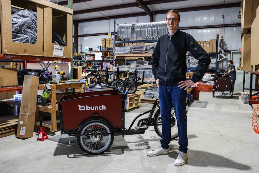
<svg viewBox="0 0 259 173">
<path fill-rule="evenodd" d="M 187 161 L 187 116 L 186 89 L 202 79 L 210 64 L 207 52 L 188 33 L 178 29 L 180 14 L 177 10 L 169 10 L 165 22 L 168 33 L 161 36 L 151 59 L 156 85 L 159 87 L 159 100 L 162 117 L 161 146 L 148 151 L 148 156 L 169 153 L 171 141 L 171 108 L 174 107 L 179 134 L 179 154 L 174 162 L 182 166 Z M 186 53 L 189 51 L 197 59 L 198 67 L 191 80 L 186 81 Z"/>
</svg>

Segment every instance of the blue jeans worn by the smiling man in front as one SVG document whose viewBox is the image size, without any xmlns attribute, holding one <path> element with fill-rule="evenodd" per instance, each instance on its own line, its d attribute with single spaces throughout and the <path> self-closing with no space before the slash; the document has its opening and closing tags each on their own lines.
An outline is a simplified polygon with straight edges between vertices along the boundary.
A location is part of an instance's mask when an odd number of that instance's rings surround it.
<svg viewBox="0 0 259 173">
<path fill-rule="evenodd" d="M 172 104 L 177 119 L 179 134 L 179 150 L 187 153 L 187 117 L 186 117 L 186 90 L 175 86 L 159 86 L 159 101 L 162 117 L 162 139 L 161 146 L 164 149 L 169 147 L 171 141 L 171 108 Z"/>
</svg>

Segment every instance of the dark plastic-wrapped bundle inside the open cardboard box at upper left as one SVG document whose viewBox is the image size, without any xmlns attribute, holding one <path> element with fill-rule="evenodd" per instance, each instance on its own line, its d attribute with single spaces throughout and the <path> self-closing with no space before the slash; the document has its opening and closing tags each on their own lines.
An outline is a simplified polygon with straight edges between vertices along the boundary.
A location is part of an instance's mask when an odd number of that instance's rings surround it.
<svg viewBox="0 0 259 173">
<path fill-rule="evenodd" d="M 37 43 L 37 12 L 23 9 L 12 14 L 12 40 L 20 43 Z"/>
</svg>

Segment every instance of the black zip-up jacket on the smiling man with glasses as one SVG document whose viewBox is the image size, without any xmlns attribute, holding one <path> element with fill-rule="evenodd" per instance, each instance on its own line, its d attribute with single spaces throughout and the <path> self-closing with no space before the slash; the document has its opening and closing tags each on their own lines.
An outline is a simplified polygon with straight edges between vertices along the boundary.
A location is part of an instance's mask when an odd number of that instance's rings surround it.
<svg viewBox="0 0 259 173">
<path fill-rule="evenodd" d="M 188 33 L 179 29 L 170 37 L 161 36 L 154 49 L 151 65 L 155 80 L 161 86 L 174 86 L 186 80 L 186 53 L 189 51 L 198 62 L 196 73 L 192 77 L 194 83 L 204 76 L 210 64 L 207 52 Z"/>
</svg>

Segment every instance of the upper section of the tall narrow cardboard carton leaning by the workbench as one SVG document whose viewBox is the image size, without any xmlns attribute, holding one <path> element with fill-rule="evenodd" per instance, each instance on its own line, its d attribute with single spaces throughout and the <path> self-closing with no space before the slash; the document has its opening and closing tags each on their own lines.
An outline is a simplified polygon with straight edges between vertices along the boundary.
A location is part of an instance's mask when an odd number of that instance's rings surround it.
<svg viewBox="0 0 259 173">
<path fill-rule="evenodd" d="M 35 114 L 38 86 L 39 77 L 24 76 L 20 112 Z"/>
</svg>

